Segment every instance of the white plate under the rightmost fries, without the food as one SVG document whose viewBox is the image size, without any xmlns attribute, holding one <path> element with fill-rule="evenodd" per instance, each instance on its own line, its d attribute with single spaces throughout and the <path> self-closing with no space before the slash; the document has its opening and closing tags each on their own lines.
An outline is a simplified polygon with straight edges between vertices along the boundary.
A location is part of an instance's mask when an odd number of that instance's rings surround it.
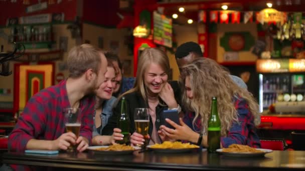
<svg viewBox="0 0 305 171">
<path fill-rule="evenodd" d="M 256 148 L 261 150 L 261 152 L 223 152 L 222 149 L 216 149 L 217 152 L 235 157 L 263 157 L 266 153 L 272 152 L 272 149 Z"/>
</svg>

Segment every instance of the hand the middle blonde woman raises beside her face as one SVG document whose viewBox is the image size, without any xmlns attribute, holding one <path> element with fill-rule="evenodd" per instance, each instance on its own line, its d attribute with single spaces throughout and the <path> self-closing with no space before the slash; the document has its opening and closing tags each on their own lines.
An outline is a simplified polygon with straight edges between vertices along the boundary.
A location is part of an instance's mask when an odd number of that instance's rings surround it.
<svg viewBox="0 0 305 171">
<path fill-rule="evenodd" d="M 174 90 L 168 82 L 163 86 L 159 96 L 162 100 L 169 106 L 169 108 L 176 108 L 178 107 L 178 103 L 175 99 Z"/>
</svg>

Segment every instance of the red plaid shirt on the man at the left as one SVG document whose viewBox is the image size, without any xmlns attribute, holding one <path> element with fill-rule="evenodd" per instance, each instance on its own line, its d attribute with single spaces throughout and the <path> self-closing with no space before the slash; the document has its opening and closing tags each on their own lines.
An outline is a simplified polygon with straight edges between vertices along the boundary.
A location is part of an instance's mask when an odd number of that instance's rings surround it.
<svg viewBox="0 0 305 171">
<path fill-rule="evenodd" d="M 80 136 L 92 138 L 94 96 L 80 100 Z M 63 108 L 70 107 L 66 80 L 36 93 L 26 104 L 9 136 L 9 151 L 24 151 L 32 138 L 55 140 L 65 132 Z"/>
</svg>

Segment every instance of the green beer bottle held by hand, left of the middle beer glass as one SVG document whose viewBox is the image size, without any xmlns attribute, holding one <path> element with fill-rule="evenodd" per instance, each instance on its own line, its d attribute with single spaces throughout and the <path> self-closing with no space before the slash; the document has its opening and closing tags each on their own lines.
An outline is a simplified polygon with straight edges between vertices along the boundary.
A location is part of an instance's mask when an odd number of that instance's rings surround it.
<svg viewBox="0 0 305 171">
<path fill-rule="evenodd" d="M 127 144 L 129 142 L 129 127 L 130 127 L 130 120 L 127 113 L 127 107 L 126 107 L 126 101 L 125 97 L 122 97 L 122 103 L 121 103 L 121 115 L 118 118 L 117 121 L 118 128 L 121 129 L 121 133 L 124 135 L 122 140 L 119 140 L 118 143 L 125 143 Z"/>
</svg>

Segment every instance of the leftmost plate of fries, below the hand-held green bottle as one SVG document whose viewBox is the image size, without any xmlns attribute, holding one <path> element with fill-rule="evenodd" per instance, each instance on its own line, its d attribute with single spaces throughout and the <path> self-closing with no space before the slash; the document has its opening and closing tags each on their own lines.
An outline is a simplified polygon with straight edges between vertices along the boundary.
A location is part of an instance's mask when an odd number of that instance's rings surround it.
<svg viewBox="0 0 305 171">
<path fill-rule="evenodd" d="M 141 148 L 138 146 L 130 146 L 125 144 L 113 144 L 89 146 L 87 149 L 99 154 L 130 154 L 133 151 Z"/>
</svg>

